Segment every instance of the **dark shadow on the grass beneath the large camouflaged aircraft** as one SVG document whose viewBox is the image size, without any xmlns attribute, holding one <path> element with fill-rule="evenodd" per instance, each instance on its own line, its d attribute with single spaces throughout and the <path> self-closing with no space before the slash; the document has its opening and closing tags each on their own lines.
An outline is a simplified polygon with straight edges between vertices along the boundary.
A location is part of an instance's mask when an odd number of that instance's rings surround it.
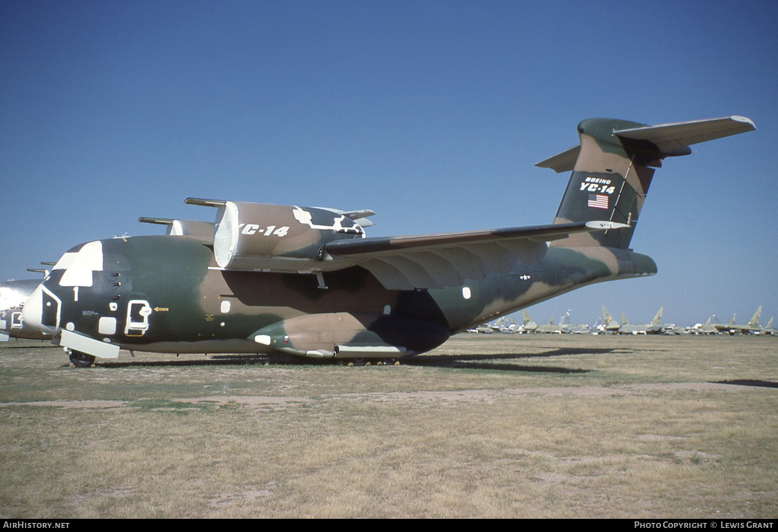
<svg viewBox="0 0 778 532">
<path fill-rule="evenodd" d="M 623 349 L 609 348 L 558 348 L 541 353 L 495 353 L 477 355 L 425 355 L 401 359 L 401 364 L 407 366 L 431 366 L 454 369 L 491 369 L 492 371 L 520 371 L 546 373 L 587 373 L 589 369 L 566 368 L 559 366 L 522 366 L 515 363 L 499 363 L 497 361 L 517 361 L 520 359 L 538 359 L 553 356 L 569 355 L 603 355 Z M 377 360 L 365 359 L 365 362 Z M 342 361 L 338 361 L 342 362 Z M 200 360 L 129 360 L 128 362 L 102 362 L 97 366 L 103 368 L 128 367 L 165 367 L 165 366 L 320 366 L 338 363 L 331 359 L 312 360 L 301 359 L 292 355 L 213 355 Z"/>
</svg>

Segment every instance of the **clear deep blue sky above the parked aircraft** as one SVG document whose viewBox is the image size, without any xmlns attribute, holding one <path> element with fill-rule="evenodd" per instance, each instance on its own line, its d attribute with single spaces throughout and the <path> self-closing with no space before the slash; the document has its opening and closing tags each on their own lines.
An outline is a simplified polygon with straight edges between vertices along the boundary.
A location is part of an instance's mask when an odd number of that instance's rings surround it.
<svg viewBox="0 0 778 532">
<path fill-rule="evenodd" d="M 534 167 L 576 124 L 739 114 L 657 170 L 653 278 L 531 307 L 633 322 L 778 314 L 774 2 L 0 3 L 0 277 L 184 198 L 372 208 L 370 236 L 551 222 Z"/>
</svg>

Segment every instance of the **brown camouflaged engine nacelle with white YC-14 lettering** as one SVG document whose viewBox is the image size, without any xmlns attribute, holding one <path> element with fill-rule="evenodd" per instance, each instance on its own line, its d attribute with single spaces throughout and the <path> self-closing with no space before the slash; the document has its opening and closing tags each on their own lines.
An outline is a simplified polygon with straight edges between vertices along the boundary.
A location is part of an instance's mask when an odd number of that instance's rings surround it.
<svg viewBox="0 0 778 532">
<path fill-rule="evenodd" d="M 364 238 L 350 213 L 335 209 L 199 200 L 219 208 L 213 254 L 220 268 L 255 271 L 321 271 L 321 250 L 331 240 Z"/>
</svg>

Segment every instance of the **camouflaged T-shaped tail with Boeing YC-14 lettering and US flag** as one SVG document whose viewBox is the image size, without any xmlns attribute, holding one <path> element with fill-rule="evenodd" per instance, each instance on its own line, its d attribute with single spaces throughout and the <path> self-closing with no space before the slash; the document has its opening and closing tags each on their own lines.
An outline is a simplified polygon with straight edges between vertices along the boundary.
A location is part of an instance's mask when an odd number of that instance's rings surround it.
<svg viewBox="0 0 778 532">
<path fill-rule="evenodd" d="M 654 126 L 612 118 L 580 122 L 579 145 L 535 165 L 558 173 L 573 170 L 554 223 L 610 220 L 629 227 L 576 233 L 551 245 L 629 248 L 654 169 L 665 157 L 689 155 L 691 144 L 754 129 L 745 117 Z"/>
</svg>

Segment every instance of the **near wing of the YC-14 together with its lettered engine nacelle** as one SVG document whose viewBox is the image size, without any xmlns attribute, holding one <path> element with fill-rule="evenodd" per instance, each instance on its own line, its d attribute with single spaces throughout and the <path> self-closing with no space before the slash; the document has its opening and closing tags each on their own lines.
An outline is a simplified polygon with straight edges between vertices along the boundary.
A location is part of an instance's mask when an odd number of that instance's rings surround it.
<svg viewBox="0 0 778 532">
<path fill-rule="evenodd" d="M 366 268 L 391 290 L 435 289 L 506 274 L 517 261 L 540 264 L 548 240 L 572 233 L 628 227 L 593 220 L 485 231 L 366 238 L 353 218 L 370 210 L 265 205 L 189 198 L 219 208 L 213 252 L 225 270 L 320 275 L 354 265 Z M 320 279 L 323 284 L 323 280 Z"/>
</svg>

